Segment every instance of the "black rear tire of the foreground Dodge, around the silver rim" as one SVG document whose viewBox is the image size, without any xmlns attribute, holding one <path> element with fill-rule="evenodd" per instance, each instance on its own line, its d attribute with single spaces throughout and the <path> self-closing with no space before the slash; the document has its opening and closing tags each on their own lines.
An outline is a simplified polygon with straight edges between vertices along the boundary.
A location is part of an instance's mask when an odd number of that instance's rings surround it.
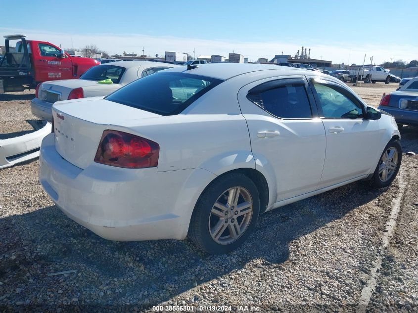
<svg viewBox="0 0 418 313">
<path fill-rule="evenodd" d="M 225 190 L 238 186 L 245 188 L 252 198 L 253 213 L 251 221 L 242 235 L 230 244 L 219 244 L 209 231 L 209 219 L 214 203 Z M 187 236 L 200 249 L 210 254 L 224 254 L 238 248 L 251 234 L 257 224 L 260 213 L 260 198 L 256 185 L 247 176 L 241 173 L 226 174 L 213 181 L 200 195 L 191 215 Z"/>
</svg>

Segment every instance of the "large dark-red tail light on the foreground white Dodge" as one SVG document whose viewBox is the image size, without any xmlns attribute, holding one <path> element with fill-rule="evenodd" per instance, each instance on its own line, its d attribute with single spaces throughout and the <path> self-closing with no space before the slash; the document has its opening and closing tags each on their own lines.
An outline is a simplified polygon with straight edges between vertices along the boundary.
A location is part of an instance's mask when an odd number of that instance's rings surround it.
<svg viewBox="0 0 418 313">
<path fill-rule="evenodd" d="M 94 162 L 142 169 L 156 167 L 160 146 L 158 143 L 124 132 L 104 131 L 97 148 Z"/>
</svg>

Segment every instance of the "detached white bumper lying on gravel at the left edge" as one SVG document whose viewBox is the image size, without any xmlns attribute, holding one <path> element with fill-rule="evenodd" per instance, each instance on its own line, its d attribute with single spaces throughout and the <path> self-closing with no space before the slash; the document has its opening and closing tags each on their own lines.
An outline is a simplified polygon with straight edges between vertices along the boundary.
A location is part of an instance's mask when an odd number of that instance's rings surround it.
<svg viewBox="0 0 418 313">
<path fill-rule="evenodd" d="M 42 128 L 33 133 L 0 139 L 0 169 L 39 156 L 42 139 L 51 133 L 51 124 L 44 121 L 42 125 Z"/>
</svg>

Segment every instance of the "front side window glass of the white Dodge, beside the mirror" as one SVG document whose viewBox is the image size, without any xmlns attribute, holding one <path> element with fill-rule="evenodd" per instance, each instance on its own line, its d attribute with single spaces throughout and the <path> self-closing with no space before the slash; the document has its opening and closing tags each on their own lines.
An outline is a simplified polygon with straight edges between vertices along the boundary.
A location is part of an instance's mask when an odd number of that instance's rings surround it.
<svg viewBox="0 0 418 313">
<path fill-rule="evenodd" d="M 333 85 L 314 83 L 319 104 L 326 118 L 363 117 L 363 106 L 348 90 Z"/>
</svg>

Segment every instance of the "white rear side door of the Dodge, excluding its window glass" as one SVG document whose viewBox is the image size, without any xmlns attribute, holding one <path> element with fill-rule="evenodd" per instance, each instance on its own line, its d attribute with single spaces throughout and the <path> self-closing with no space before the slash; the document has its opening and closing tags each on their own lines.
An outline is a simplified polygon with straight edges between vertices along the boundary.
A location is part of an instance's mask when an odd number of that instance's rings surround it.
<svg viewBox="0 0 418 313">
<path fill-rule="evenodd" d="M 280 76 L 304 78 L 303 75 Z M 301 193 L 316 190 L 321 180 L 325 160 L 325 130 L 319 118 L 286 120 L 273 117 L 247 99 L 248 90 L 272 78 L 257 80 L 239 90 L 238 101 L 247 120 L 251 147 L 257 162 L 256 169 L 268 168 L 275 180 L 276 194 L 272 200 L 281 201 Z M 274 137 L 258 137 L 259 132 L 279 132 Z M 309 153 L 307 153 L 309 151 Z M 299 164 L 297 167 L 293 165 Z M 288 171 L 292 168 L 291 171 Z"/>
</svg>

